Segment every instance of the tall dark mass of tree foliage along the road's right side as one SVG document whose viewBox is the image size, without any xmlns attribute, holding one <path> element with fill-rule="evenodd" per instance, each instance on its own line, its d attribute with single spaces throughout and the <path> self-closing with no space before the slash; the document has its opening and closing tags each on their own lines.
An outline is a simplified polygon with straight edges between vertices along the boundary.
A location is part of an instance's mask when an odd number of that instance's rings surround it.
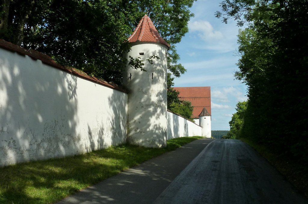
<svg viewBox="0 0 308 204">
<path fill-rule="evenodd" d="M 239 71 L 248 85 L 241 136 L 308 162 L 308 1 L 232 0 L 221 4 L 223 21 L 239 33 Z"/>
</svg>

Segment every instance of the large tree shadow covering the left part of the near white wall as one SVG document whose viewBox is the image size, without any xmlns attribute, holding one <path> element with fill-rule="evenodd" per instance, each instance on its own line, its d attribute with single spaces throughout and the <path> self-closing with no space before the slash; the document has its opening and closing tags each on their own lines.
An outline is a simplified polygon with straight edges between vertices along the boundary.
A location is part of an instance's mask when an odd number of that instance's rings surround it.
<svg viewBox="0 0 308 204">
<path fill-rule="evenodd" d="M 0 51 L 0 166 L 64 156 L 67 147 L 76 148 L 76 77 Z"/>
</svg>

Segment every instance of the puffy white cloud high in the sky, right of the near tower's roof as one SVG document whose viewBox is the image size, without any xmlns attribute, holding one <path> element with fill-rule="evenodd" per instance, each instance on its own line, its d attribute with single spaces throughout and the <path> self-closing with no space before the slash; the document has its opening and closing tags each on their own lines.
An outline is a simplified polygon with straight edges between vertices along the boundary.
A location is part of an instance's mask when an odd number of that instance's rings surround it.
<svg viewBox="0 0 308 204">
<path fill-rule="evenodd" d="M 223 34 L 214 30 L 209 21 L 189 21 L 188 28 L 190 32 L 197 32 L 198 36 L 205 41 L 223 38 Z"/>
</svg>

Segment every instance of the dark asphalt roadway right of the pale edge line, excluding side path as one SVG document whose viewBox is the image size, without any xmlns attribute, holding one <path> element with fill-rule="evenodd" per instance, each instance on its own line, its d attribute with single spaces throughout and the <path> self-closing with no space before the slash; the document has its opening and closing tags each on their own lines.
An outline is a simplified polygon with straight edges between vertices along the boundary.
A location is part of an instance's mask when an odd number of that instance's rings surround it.
<svg viewBox="0 0 308 204">
<path fill-rule="evenodd" d="M 308 200 L 247 144 L 215 140 L 154 203 L 307 204 Z"/>
</svg>

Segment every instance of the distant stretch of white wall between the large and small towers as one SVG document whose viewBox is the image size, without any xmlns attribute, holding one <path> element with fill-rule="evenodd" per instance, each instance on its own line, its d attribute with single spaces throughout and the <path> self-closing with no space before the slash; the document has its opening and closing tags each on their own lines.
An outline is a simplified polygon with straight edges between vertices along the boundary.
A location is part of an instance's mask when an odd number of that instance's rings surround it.
<svg viewBox="0 0 308 204">
<path fill-rule="evenodd" d="M 192 137 L 202 135 L 202 128 L 199 125 L 169 111 L 167 112 L 167 123 L 167 140 L 177 137 Z"/>
</svg>

